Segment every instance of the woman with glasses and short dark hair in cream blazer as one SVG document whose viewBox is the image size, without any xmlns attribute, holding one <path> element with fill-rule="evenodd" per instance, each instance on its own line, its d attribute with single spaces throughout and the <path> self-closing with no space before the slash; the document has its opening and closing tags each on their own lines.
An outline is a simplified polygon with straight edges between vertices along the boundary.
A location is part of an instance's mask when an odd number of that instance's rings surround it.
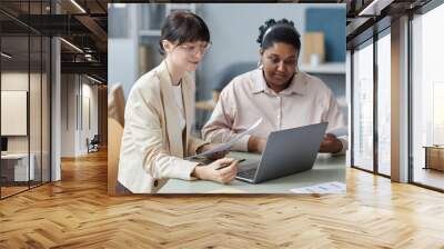
<svg viewBox="0 0 444 249">
<path fill-rule="evenodd" d="M 206 24 L 191 12 L 173 12 L 162 27 L 159 46 L 163 61 L 143 74 L 129 94 L 118 188 L 157 192 L 170 178 L 230 182 L 238 171 L 233 159 L 205 166 L 184 159 L 213 148 L 190 136 L 195 91 L 190 72 L 210 46 Z"/>
</svg>

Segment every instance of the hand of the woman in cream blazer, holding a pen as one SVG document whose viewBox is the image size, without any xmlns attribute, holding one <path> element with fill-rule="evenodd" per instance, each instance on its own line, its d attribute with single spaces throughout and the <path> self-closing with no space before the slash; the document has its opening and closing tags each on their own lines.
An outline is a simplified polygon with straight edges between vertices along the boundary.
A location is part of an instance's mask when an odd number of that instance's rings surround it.
<svg viewBox="0 0 444 249">
<path fill-rule="evenodd" d="M 202 180 L 210 180 L 220 183 L 231 182 L 238 173 L 239 161 L 233 158 L 222 158 L 208 166 L 198 166 L 192 173 Z"/>
</svg>

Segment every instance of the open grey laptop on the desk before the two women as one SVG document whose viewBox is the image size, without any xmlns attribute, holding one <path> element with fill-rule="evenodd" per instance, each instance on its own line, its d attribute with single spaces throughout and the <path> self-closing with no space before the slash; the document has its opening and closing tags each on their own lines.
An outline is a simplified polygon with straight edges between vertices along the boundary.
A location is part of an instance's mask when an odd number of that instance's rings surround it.
<svg viewBox="0 0 444 249">
<path fill-rule="evenodd" d="M 250 183 L 313 168 L 329 122 L 271 132 L 260 161 L 241 163 L 236 179 Z"/>
</svg>

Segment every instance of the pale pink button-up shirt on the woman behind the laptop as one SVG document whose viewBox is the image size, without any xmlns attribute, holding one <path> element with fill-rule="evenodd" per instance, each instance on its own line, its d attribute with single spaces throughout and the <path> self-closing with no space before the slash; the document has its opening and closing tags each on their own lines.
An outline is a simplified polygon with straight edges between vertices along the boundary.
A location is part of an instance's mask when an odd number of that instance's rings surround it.
<svg viewBox="0 0 444 249">
<path fill-rule="evenodd" d="M 221 92 L 214 111 L 202 129 L 210 142 L 228 142 L 262 118 L 252 135 L 266 138 L 281 129 L 329 122 L 330 130 L 345 127 L 345 119 L 333 92 L 319 78 L 297 72 L 291 84 L 275 93 L 266 86 L 261 69 L 234 78 Z M 250 136 L 232 150 L 248 151 Z M 339 138 L 344 152 L 346 137 Z"/>
</svg>

